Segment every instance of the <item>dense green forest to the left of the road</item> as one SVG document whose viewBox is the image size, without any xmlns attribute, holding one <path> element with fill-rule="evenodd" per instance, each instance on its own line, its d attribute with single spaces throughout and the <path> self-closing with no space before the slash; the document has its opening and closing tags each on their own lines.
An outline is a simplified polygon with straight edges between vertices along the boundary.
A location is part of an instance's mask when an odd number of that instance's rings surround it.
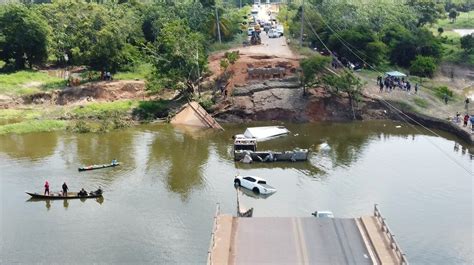
<svg viewBox="0 0 474 265">
<path fill-rule="evenodd" d="M 148 62 L 157 87 L 192 86 L 211 44 L 240 34 L 248 12 L 240 1 L 23 2 L 0 5 L 2 71 L 48 64 L 114 73 Z"/>
</svg>

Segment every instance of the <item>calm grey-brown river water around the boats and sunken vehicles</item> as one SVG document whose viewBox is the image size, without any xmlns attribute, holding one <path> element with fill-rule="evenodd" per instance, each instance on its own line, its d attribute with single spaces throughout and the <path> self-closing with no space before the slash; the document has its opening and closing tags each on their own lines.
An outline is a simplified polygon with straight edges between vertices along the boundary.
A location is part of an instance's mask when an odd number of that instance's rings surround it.
<svg viewBox="0 0 474 265">
<path fill-rule="evenodd" d="M 241 165 L 231 136 L 168 124 L 107 134 L 0 136 L 0 263 L 202 264 L 216 203 L 235 214 L 233 176 L 264 177 L 254 216 L 372 214 L 378 203 L 412 264 L 471 264 L 472 156 L 452 136 L 393 122 L 287 124 L 259 149 L 310 148 L 304 163 Z M 464 146 L 464 147 L 463 147 Z M 472 152 L 472 146 L 471 146 Z M 90 172 L 81 165 L 123 162 Z M 29 201 L 24 191 L 98 186 L 104 199 Z"/>
</svg>

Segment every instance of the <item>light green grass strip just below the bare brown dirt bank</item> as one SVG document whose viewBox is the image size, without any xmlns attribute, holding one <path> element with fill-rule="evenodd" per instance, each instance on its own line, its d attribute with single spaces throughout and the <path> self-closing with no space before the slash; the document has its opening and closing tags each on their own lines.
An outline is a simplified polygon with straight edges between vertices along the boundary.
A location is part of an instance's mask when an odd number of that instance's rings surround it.
<svg viewBox="0 0 474 265">
<path fill-rule="evenodd" d="M 102 118 L 111 113 L 126 114 L 137 106 L 137 102 L 131 100 L 91 103 L 81 107 L 75 107 L 72 114 L 75 118 Z"/>
</svg>

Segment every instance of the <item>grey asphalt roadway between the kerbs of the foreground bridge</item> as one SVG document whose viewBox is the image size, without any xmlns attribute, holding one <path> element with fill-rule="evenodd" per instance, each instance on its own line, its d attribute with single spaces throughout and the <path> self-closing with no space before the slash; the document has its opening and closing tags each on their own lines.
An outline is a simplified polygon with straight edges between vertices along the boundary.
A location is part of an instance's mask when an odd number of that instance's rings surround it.
<svg viewBox="0 0 474 265">
<path fill-rule="evenodd" d="M 239 218 L 236 229 L 235 264 L 372 264 L 354 219 Z"/>
</svg>

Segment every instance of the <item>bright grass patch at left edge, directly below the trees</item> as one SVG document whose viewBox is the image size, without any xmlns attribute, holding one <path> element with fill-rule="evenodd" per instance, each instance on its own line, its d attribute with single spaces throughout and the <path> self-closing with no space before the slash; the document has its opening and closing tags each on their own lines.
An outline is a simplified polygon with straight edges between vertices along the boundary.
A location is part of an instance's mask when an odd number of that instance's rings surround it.
<svg viewBox="0 0 474 265">
<path fill-rule="evenodd" d="M 38 71 L 18 71 L 0 74 L 0 93 L 7 95 L 26 95 L 43 90 L 62 87 L 65 80 Z"/>
</svg>

